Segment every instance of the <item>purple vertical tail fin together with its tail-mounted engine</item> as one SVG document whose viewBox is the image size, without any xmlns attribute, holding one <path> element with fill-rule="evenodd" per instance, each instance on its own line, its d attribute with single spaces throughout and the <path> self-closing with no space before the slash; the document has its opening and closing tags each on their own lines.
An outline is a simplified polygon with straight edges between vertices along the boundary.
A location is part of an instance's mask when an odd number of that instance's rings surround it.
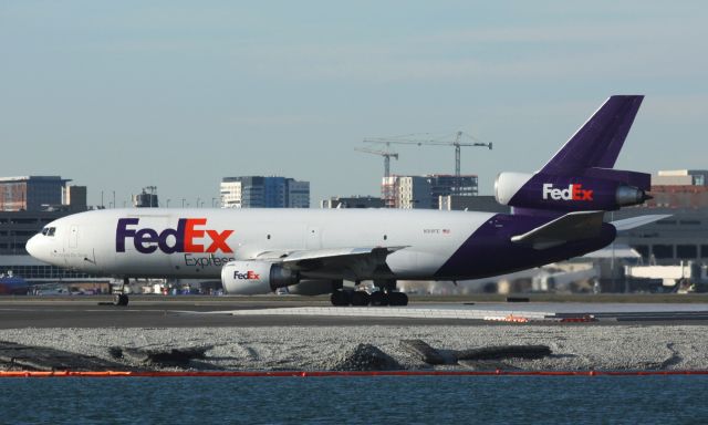
<svg viewBox="0 0 708 425">
<path fill-rule="evenodd" d="M 516 215 L 545 217 L 644 203 L 650 176 L 612 168 L 643 100 L 610 97 L 540 172 L 501 173 L 494 184 L 497 200 L 514 207 Z"/>
</svg>

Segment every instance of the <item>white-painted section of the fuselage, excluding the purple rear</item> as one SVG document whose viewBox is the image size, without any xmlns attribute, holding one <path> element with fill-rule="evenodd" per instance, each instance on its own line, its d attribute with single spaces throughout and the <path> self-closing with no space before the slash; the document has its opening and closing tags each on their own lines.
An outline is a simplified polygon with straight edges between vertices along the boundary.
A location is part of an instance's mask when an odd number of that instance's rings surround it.
<svg viewBox="0 0 708 425">
<path fill-rule="evenodd" d="M 357 247 L 405 247 L 386 265 L 397 279 L 431 279 L 452 253 L 493 214 L 391 209 L 108 209 L 58 219 L 54 236 L 37 235 L 28 242 L 35 258 L 87 273 L 121 277 L 215 278 L 229 260 L 247 260 L 264 252 Z M 119 219 L 138 219 L 116 250 Z M 192 226 L 189 243 L 207 250 L 210 230 L 222 237 L 215 252 L 165 253 L 157 247 L 163 234 L 167 248 L 177 243 L 179 219 L 206 219 Z M 154 232 L 145 229 L 153 229 Z M 219 239 L 219 236 L 216 236 Z M 222 249 L 228 247 L 228 249 Z M 231 250 L 232 252 L 228 252 Z M 336 277 L 333 277 L 336 278 Z"/>
</svg>

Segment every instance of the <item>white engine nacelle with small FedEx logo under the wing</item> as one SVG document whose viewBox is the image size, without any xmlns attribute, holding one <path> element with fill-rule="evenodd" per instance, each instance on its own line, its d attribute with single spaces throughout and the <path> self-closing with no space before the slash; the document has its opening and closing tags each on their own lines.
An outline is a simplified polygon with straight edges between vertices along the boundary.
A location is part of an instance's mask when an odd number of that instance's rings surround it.
<svg viewBox="0 0 708 425">
<path fill-rule="evenodd" d="M 300 281 L 296 271 L 268 261 L 231 261 L 221 268 L 223 291 L 236 296 L 269 293 Z"/>
</svg>

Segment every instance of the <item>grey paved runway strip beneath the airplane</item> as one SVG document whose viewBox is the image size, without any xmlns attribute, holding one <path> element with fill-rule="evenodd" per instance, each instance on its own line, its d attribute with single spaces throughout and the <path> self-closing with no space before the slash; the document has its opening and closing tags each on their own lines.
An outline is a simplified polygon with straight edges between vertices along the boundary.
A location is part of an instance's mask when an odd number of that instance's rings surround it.
<svg viewBox="0 0 708 425">
<path fill-rule="evenodd" d="M 407 307 L 334 308 L 308 299 L 137 298 L 128 307 L 108 298 L 2 298 L 0 329 L 209 328 L 323 325 L 489 325 L 508 317 L 539 324 L 592 317 L 589 324 L 708 323 L 708 303 L 415 302 Z M 565 323 L 563 323 L 565 324 Z"/>
</svg>

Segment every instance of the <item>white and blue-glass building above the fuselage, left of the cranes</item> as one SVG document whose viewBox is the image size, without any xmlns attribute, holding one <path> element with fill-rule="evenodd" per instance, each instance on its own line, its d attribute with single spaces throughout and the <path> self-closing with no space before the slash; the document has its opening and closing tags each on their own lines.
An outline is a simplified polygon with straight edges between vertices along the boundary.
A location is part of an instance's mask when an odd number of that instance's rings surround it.
<svg viewBox="0 0 708 425">
<path fill-rule="evenodd" d="M 288 177 L 223 177 L 221 208 L 310 208 L 310 182 Z"/>
</svg>

